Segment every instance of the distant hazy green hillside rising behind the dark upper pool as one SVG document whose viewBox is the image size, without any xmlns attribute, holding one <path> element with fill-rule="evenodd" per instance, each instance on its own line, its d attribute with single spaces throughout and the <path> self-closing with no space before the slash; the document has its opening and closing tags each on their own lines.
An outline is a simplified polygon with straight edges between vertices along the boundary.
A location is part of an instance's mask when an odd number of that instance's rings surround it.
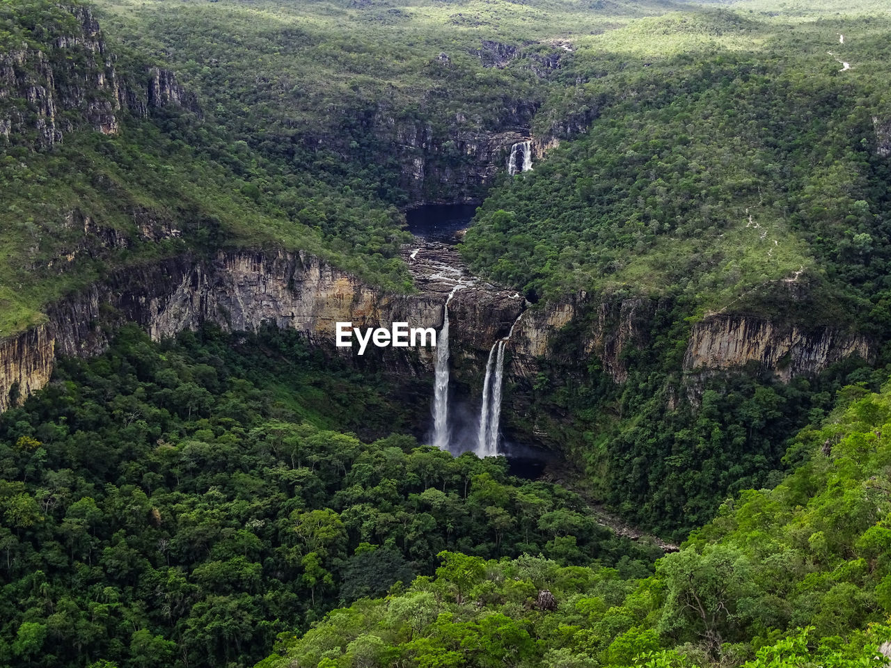
<svg viewBox="0 0 891 668">
<path fill-rule="evenodd" d="M 267 157 L 400 206 L 481 198 L 478 159 L 502 167 L 511 144 L 487 137 L 527 134 L 576 38 L 673 6 L 98 5 L 122 42 L 180 72 L 208 115 Z"/>
</svg>

